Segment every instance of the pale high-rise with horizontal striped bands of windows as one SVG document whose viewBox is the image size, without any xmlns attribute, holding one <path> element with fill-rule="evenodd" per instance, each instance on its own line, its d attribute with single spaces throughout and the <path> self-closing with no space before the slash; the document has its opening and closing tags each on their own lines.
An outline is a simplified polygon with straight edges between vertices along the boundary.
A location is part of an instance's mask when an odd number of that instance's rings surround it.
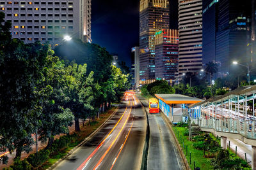
<svg viewBox="0 0 256 170">
<path fill-rule="evenodd" d="M 202 0 L 179 0 L 179 75 L 202 69 Z"/>
</svg>

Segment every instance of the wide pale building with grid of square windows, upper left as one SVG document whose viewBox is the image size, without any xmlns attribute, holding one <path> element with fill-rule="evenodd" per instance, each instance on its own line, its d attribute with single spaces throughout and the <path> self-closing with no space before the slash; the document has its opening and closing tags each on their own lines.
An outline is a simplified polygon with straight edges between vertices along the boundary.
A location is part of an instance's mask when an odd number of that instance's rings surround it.
<svg viewBox="0 0 256 170">
<path fill-rule="evenodd" d="M 0 11 L 12 22 L 12 36 L 25 43 L 61 43 L 64 36 L 92 42 L 92 0 L 1 0 Z"/>
</svg>

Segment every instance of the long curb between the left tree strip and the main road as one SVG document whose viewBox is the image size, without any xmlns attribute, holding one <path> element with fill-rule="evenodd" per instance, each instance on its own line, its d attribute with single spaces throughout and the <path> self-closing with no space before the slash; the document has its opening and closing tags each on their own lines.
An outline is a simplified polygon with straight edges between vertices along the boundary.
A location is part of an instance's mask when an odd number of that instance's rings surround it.
<svg viewBox="0 0 256 170">
<path fill-rule="evenodd" d="M 71 155 L 72 153 L 74 153 L 77 148 L 79 148 L 81 145 L 83 145 L 84 143 L 86 143 L 90 138 L 92 138 L 97 132 L 99 132 L 102 127 L 115 115 L 116 111 L 118 110 L 118 107 L 116 108 L 116 110 L 112 113 L 112 115 L 110 115 L 110 117 L 105 120 L 105 122 L 103 124 L 100 125 L 100 127 L 98 127 L 95 131 L 92 132 L 92 134 L 90 134 L 89 136 L 87 136 L 83 141 L 81 141 L 81 143 L 79 143 L 79 145 L 75 146 L 72 150 L 70 150 L 67 155 L 65 155 L 63 158 L 59 159 L 57 162 L 55 162 L 51 167 L 49 167 L 46 170 L 51 170 L 54 169 L 54 167 L 58 166 L 58 164 L 60 164 L 60 162 L 64 159 L 66 159 L 69 155 Z"/>
</svg>

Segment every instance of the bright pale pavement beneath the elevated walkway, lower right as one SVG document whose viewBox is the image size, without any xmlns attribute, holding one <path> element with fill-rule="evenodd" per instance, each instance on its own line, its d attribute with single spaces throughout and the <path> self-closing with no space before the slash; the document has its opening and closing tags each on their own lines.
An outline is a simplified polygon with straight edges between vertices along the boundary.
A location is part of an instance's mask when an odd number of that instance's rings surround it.
<svg viewBox="0 0 256 170">
<path fill-rule="evenodd" d="M 236 146 L 237 146 L 237 156 L 245 160 L 244 153 L 246 153 L 247 162 L 249 162 L 250 166 L 252 166 L 252 146 L 246 145 L 239 139 L 227 138 L 227 148 L 228 148 L 228 141 L 230 141 L 230 150 L 236 153 Z"/>
</svg>

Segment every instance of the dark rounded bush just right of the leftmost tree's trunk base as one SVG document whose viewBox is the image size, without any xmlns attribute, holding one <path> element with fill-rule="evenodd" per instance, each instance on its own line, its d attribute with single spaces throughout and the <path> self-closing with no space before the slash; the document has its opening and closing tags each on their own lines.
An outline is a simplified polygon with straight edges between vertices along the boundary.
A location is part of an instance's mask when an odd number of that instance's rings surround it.
<svg viewBox="0 0 256 170">
<path fill-rule="evenodd" d="M 29 155 L 27 160 L 33 168 L 37 169 L 49 159 L 49 154 L 49 150 L 40 150 L 37 153 Z"/>
</svg>

